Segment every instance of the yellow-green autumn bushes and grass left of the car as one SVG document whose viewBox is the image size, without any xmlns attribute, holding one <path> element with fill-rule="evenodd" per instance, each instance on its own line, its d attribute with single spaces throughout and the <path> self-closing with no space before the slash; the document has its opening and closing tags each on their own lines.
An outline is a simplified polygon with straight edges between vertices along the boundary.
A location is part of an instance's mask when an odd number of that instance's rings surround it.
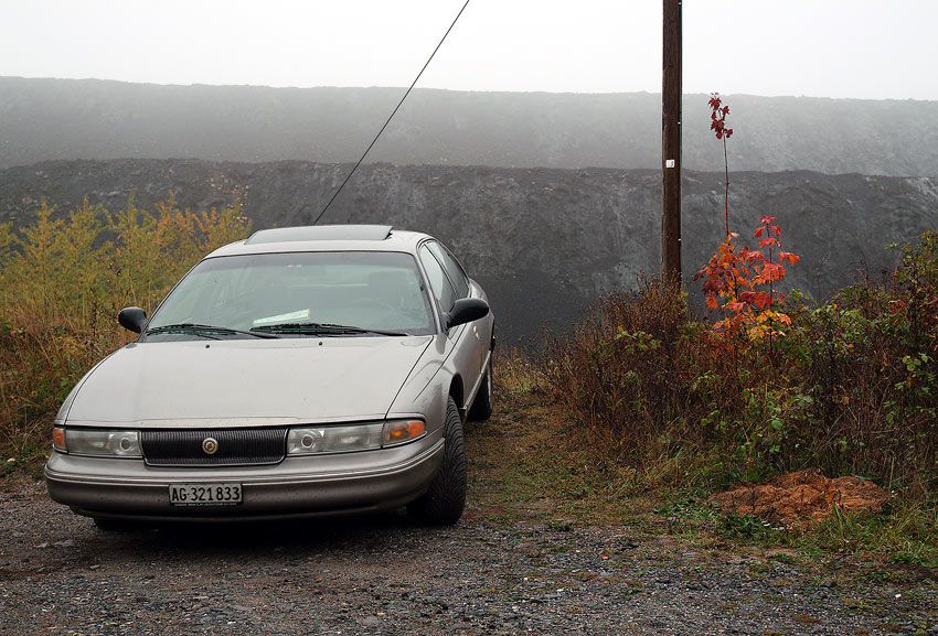
<svg viewBox="0 0 938 636">
<path fill-rule="evenodd" d="M 247 236 L 237 207 L 196 215 L 170 195 L 150 211 L 132 200 L 67 216 L 45 203 L 20 231 L 0 225 L 0 474 L 44 457 L 72 387 L 130 341 L 121 308 L 148 314 L 209 250 Z"/>
</svg>

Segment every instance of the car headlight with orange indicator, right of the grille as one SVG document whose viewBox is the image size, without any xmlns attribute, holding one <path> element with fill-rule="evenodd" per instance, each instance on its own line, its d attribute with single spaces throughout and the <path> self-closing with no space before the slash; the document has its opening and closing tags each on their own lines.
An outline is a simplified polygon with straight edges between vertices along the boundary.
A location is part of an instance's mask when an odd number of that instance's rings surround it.
<svg viewBox="0 0 938 636">
<path fill-rule="evenodd" d="M 419 420 L 392 420 L 344 427 L 296 427 L 287 434 L 288 455 L 347 453 L 403 444 L 424 435 Z"/>
</svg>

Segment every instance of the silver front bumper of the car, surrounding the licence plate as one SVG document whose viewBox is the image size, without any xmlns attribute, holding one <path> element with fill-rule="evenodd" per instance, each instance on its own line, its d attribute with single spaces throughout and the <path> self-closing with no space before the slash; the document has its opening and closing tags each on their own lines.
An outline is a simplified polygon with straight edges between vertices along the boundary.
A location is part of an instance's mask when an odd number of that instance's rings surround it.
<svg viewBox="0 0 938 636">
<path fill-rule="evenodd" d="M 104 519 L 235 520 L 386 510 L 424 494 L 443 462 L 439 432 L 392 449 L 287 457 L 270 466 L 163 468 L 142 460 L 53 452 L 45 481 L 53 500 Z M 171 483 L 238 483 L 228 506 L 172 506 Z"/>
</svg>

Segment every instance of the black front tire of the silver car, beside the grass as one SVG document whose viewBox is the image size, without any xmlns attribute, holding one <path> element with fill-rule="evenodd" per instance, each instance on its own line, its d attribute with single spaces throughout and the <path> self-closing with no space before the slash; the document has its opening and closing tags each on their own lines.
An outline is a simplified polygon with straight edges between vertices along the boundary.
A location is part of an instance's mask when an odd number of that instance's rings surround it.
<svg viewBox="0 0 938 636">
<path fill-rule="evenodd" d="M 462 418 L 450 396 L 446 405 L 443 436 L 443 464 L 429 489 L 407 505 L 411 518 L 426 526 L 450 526 L 462 516 L 466 507 L 466 445 L 462 441 Z"/>
</svg>

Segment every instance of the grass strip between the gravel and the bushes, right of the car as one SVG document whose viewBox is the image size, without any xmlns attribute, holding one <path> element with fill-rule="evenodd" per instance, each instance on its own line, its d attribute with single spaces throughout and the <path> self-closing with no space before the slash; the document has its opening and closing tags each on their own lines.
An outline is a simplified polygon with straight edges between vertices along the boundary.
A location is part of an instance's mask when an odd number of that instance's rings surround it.
<svg viewBox="0 0 938 636">
<path fill-rule="evenodd" d="M 764 559 L 757 570 L 849 558 L 865 563 L 873 579 L 938 581 L 934 505 L 899 498 L 881 514 L 790 526 L 725 515 L 706 502 L 720 489 L 718 478 L 675 484 L 667 456 L 640 470 L 610 461 L 548 396 L 529 382 L 505 381 L 515 376 L 499 370 L 495 414 L 467 423 L 469 519 L 540 522 L 558 531 L 621 525 L 636 537 L 670 535 L 702 548 L 756 550 Z"/>
</svg>

